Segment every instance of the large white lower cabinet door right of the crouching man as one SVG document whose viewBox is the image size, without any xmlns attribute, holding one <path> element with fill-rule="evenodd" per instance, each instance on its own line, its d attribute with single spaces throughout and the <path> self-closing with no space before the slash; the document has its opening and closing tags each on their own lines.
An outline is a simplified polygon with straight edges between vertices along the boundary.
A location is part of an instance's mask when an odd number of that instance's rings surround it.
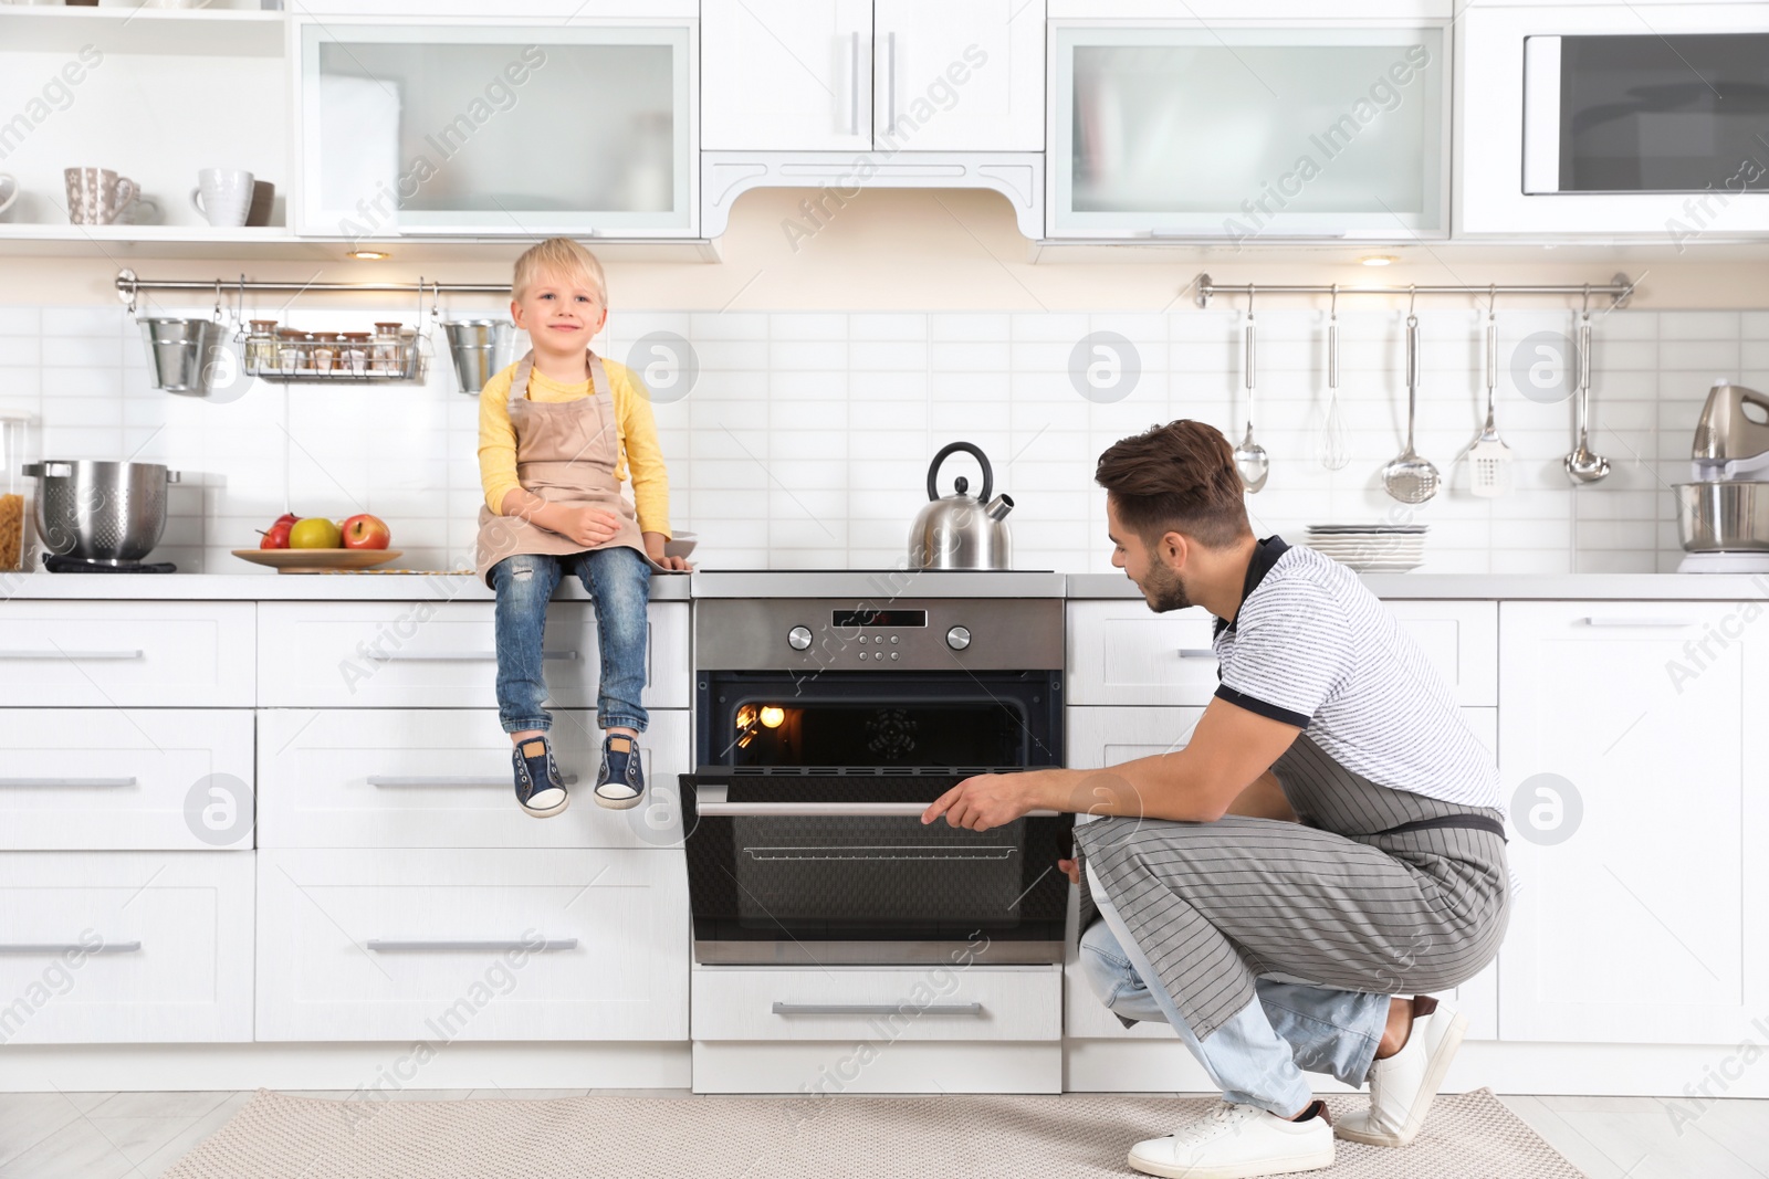
<svg viewBox="0 0 1769 1179">
<path fill-rule="evenodd" d="M 1732 1045 L 1769 1011 L 1760 603 L 1504 603 L 1507 1041 Z"/>
</svg>

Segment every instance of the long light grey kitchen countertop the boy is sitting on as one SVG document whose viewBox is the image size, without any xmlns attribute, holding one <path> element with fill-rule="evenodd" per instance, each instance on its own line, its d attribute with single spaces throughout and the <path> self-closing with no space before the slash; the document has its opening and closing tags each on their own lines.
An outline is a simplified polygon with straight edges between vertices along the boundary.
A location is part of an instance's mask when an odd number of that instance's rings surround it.
<svg viewBox="0 0 1769 1179">
<path fill-rule="evenodd" d="M 1366 576 L 1378 597 L 1396 601 L 1762 601 L 1769 574 L 1627 573 L 1627 574 L 1429 574 Z M 692 576 L 655 574 L 651 601 L 690 597 L 830 596 L 856 601 L 890 597 L 1068 597 L 1139 599 L 1118 573 L 800 573 L 732 571 Z M 584 601 L 575 580 L 561 583 L 561 599 Z M 253 574 L 253 573 L 0 573 L 0 601 L 492 601 L 472 574 Z"/>
</svg>

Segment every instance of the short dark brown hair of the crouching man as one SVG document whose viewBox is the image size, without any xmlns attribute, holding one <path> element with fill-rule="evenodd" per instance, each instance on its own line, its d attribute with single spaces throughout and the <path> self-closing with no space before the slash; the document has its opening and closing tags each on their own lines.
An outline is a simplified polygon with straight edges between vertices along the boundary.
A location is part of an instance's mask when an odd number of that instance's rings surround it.
<svg viewBox="0 0 1769 1179">
<path fill-rule="evenodd" d="M 1182 417 L 1122 438 L 1100 454 L 1093 479 L 1145 544 L 1183 532 L 1228 548 L 1252 534 L 1235 449 L 1215 426 Z"/>
</svg>

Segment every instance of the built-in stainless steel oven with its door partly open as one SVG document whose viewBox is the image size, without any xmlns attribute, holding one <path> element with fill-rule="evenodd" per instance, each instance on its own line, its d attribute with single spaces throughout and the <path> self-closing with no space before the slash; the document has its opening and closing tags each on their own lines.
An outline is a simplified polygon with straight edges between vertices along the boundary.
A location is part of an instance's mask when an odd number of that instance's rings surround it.
<svg viewBox="0 0 1769 1179">
<path fill-rule="evenodd" d="M 697 601 L 695 962 L 1060 963 L 1074 815 L 920 815 L 1060 764 L 1061 656 L 1060 597 Z"/>
</svg>

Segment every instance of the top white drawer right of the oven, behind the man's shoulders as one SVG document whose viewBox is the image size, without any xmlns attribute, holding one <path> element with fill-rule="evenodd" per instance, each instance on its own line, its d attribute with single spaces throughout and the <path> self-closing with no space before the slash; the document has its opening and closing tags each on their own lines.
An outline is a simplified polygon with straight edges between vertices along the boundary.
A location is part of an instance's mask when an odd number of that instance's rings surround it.
<svg viewBox="0 0 1769 1179">
<path fill-rule="evenodd" d="M 1463 705 L 1498 704 L 1498 606 L 1383 603 Z M 1201 606 L 1153 613 L 1141 599 L 1068 603 L 1068 702 L 1208 704 L 1217 689 L 1215 620 Z"/>
</svg>

